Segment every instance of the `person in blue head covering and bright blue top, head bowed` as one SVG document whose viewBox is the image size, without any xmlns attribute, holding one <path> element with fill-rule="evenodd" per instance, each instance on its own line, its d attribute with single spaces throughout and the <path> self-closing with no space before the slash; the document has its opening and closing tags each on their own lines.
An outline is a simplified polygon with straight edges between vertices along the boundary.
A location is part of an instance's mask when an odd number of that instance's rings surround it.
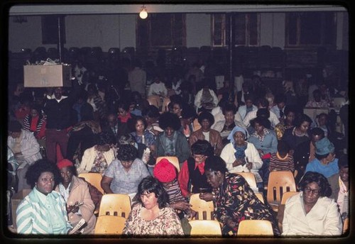
<svg viewBox="0 0 355 244">
<path fill-rule="evenodd" d="M 307 164 L 305 172 L 308 171 L 318 172 L 326 178 L 339 173 L 334 144 L 328 138 L 324 137 L 315 142 L 315 159 Z"/>
</svg>

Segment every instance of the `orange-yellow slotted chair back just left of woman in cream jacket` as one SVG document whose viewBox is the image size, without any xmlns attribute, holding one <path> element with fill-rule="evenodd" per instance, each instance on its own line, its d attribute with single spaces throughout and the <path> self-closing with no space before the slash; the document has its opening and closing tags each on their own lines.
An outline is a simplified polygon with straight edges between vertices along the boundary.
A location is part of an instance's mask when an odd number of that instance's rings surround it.
<svg viewBox="0 0 355 244">
<path fill-rule="evenodd" d="M 266 199 L 275 212 L 285 192 L 296 192 L 295 178 L 290 171 L 273 171 L 268 178 Z"/>
</svg>

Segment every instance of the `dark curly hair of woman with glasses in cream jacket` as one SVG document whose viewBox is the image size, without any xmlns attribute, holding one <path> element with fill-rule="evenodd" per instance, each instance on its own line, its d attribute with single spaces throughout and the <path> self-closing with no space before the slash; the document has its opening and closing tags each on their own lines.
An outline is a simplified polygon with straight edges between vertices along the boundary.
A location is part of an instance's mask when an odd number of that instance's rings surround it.
<svg viewBox="0 0 355 244">
<path fill-rule="evenodd" d="M 332 188 L 330 188 L 329 182 L 323 174 L 318 172 L 308 171 L 300 180 L 298 188 L 301 191 L 304 191 L 307 187 L 307 184 L 315 182 L 320 187 L 320 196 L 330 196 L 332 194 Z"/>
</svg>

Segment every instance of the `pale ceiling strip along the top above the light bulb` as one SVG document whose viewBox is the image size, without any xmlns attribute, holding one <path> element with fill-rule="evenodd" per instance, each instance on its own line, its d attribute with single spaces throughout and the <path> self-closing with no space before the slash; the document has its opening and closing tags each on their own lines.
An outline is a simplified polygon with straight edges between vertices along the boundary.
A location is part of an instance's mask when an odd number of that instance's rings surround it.
<svg viewBox="0 0 355 244">
<path fill-rule="evenodd" d="M 138 13 L 140 4 L 78 4 L 78 5 L 16 5 L 9 16 L 44 14 L 114 14 Z M 229 12 L 289 12 L 289 11 L 346 11 L 340 5 L 287 4 L 147 4 L 148 13 L 229 13 Z"/>
</svg>

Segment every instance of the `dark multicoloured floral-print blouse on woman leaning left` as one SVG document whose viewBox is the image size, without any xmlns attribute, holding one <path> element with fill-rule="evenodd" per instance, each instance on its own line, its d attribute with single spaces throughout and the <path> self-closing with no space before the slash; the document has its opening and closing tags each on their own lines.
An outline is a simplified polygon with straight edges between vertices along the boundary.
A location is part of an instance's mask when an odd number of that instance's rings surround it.
<svg viewBox="0 0 355 244">
<path fill-rule="evenodd" d="M 241 175 L 226 172 L 224 182 L 218 189 L 214 189 L 214 193 L 216 194 L 214 217 L 223 223 L 222 235 L 235 236 L 239 222 L 244 219 L 271 221 L 274 234 L 280 235 L 272 209 L 258 199 Z M 228 219 L 236 222 L 234 228 L 226 225 Z"/>
</svg>

